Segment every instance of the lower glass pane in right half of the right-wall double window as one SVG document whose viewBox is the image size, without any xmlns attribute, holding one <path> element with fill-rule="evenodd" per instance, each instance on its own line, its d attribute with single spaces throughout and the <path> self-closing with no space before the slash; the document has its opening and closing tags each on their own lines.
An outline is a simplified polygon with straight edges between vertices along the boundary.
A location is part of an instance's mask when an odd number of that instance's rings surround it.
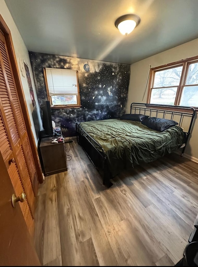
<svg viewBox="0 0 198 267">
<path fill-rule="evenodd" d="M 198 107 L 198 86 L 185 86 L 180 106 Z"/>
</svg>

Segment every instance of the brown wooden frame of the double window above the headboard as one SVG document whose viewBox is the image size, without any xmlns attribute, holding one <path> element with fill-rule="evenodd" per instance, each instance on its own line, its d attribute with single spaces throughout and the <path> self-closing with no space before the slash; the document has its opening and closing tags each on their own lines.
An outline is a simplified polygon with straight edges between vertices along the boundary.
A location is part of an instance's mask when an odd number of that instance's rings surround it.
<svg viewBox="0 0 198 267">
<path fill-rule="evenodd" d="M 151 93 L 152 93 L 152 89 L 153 89 L 153 85 L 154 85 L 155 73 L 157 71 L 183 66 L 179 85 L 177 85 L 177 86 L 158 87 L 158 88 L 178 87 L 177 93 L 176 93 L 176 97 L 175 97 L 174 106 L 181 107 L 181 106 L 179 106 L 179 103 L 181 101 L 183 88 L 185 86 L 192 86 L 192 85 L 185 85 L 186 80 L 187 80 L 187 74 L 188 74 L 189 66 L 192 63 L 198 63 L 198 56 L 187 58 L 187 59 L 183 59 L 183 60 L 179 60 L 179 61 L 172 62 L 172 63 L 168 63 L 166 65 L 161 65 L 161 66 L 158 66 L 158 67 L 155 67 L 155 68 L 151 68 L 150 69 L 150 74 L 149 74 L 149 86 L 148 86 L 148 94 L 147 94 L 147 102 L 146 103 L 152 104 L 153 106 L 155 106 L 154 103 L 150 103 Z M 198 84 L 195 84 L 195 85 L 198 85 Z M 198 107 L 194 107 L 194 108 L 196 109 L 196 111 L 198 111 Z"/>
</svg>

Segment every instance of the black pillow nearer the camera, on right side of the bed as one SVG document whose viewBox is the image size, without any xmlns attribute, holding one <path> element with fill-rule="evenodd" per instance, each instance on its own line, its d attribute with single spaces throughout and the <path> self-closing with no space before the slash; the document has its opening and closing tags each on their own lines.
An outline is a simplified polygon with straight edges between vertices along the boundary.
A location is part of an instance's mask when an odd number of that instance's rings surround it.
<svg viewBox="0 0 198 267">
<path fill-rule="evenodd" d="M 151 117 L 148 119 L 145 119 L 141 122 L 142 124 L 146 125 L 150 129 L 162 132 L 174 125 L 177 125 L 178 122 L 174 120 L 168 120 L 168 119 L 161 119 L 156 117 Z"/>
</svg>

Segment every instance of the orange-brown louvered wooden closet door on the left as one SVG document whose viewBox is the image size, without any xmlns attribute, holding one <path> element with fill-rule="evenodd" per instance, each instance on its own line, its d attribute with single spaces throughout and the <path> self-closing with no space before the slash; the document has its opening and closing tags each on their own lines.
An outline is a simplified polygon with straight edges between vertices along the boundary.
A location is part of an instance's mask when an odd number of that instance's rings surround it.
<svg viewBox="0 0 198 267">
<path fill-rule="evenodd" d="M 15 194 L 26 193 L 19 203 L 31 234 L 34 231 L 37 173 L 28 141 L 5 38 L 0 32 L 0 151 L 6 163 Z"/>
</svg>

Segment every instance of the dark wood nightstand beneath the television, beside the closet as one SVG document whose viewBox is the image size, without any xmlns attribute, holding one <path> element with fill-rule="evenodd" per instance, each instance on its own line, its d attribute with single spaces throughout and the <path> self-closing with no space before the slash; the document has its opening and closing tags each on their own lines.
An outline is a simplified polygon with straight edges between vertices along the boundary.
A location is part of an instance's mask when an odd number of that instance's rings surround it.
<svg viewBox="0 0 198 267">
<path fill-rule="evenodd" d="M 67 171 L 67 158 L 64 142 L 53 144 L 52 137 L 41 139 L 40 152 L 45 176 Z"/>
</svg>

